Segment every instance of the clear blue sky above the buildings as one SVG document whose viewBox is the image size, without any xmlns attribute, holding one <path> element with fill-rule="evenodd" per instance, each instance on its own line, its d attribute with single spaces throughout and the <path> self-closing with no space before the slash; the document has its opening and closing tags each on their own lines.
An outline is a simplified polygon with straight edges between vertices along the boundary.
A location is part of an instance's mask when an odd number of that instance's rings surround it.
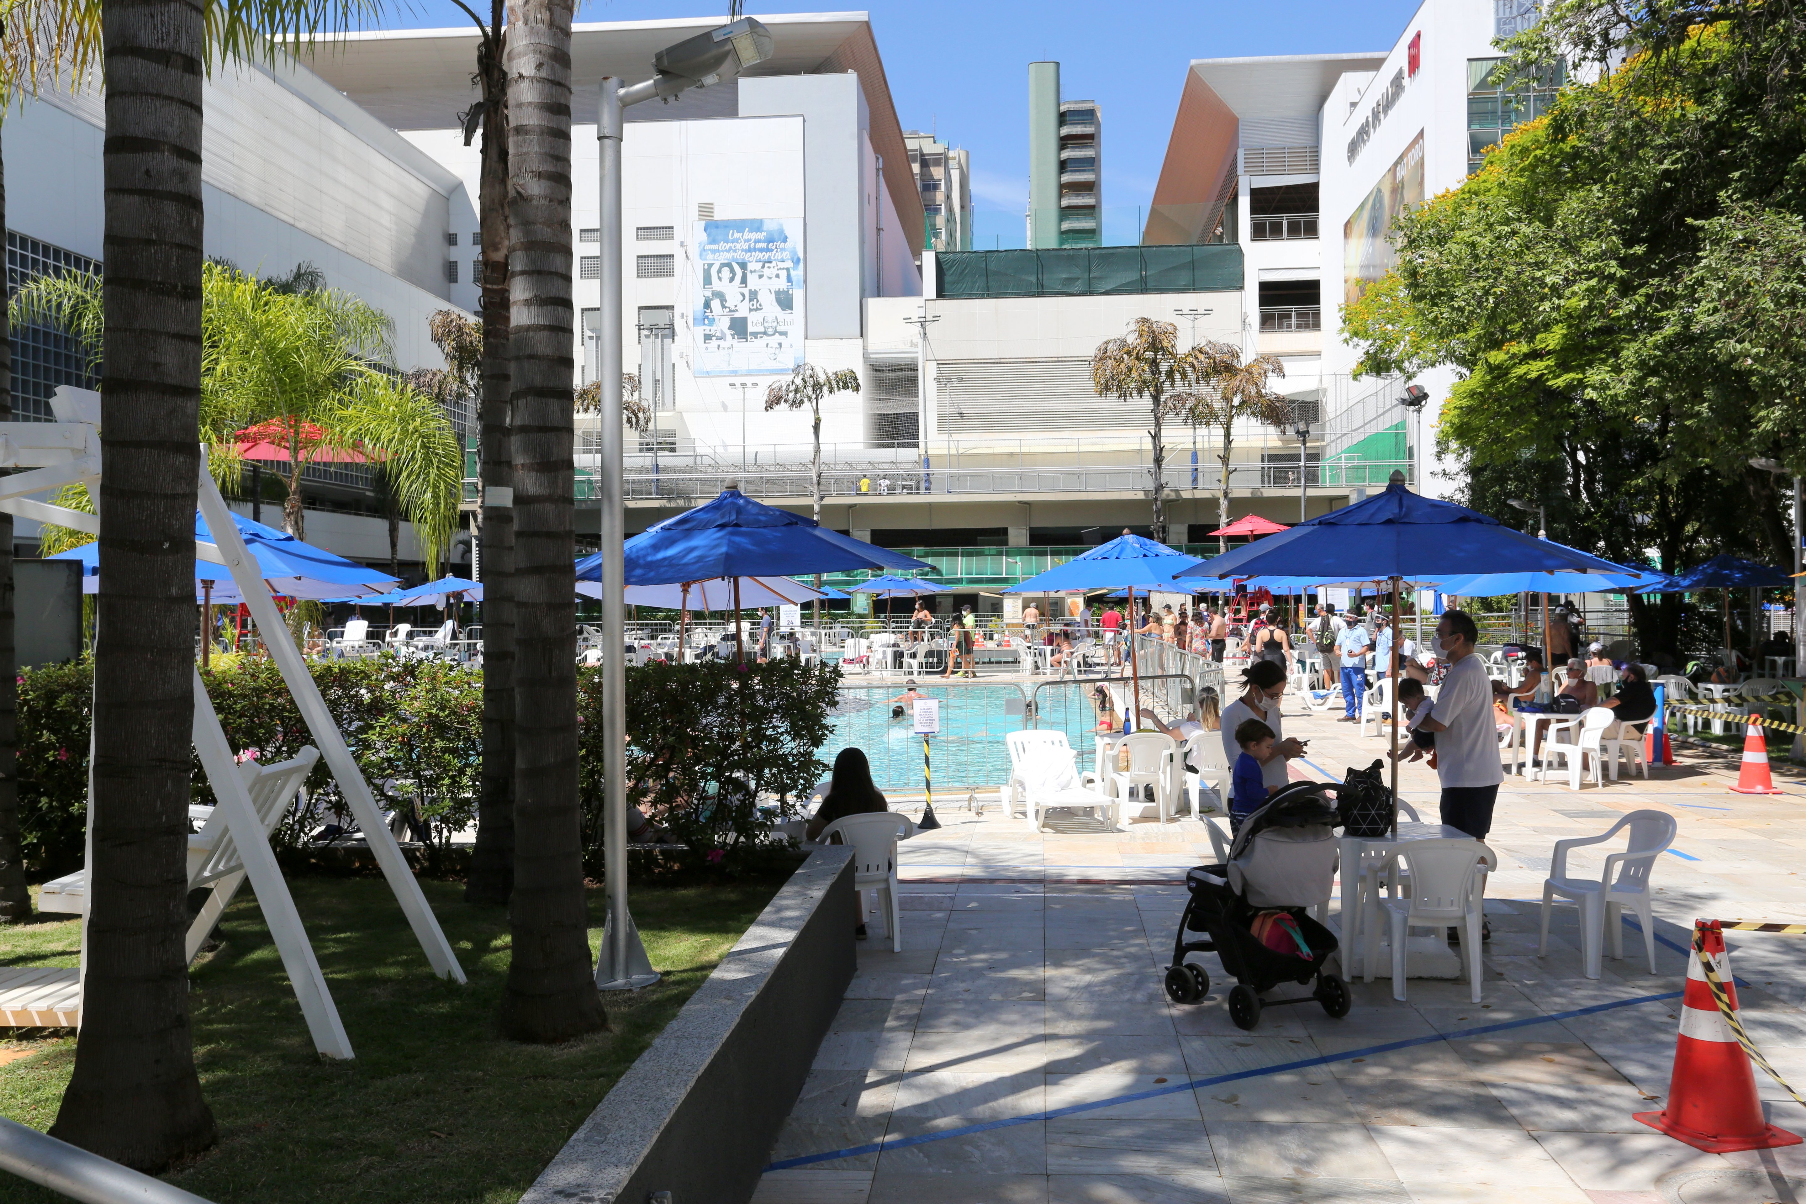
<svg viewBox="0 0 1806 1204">
<path fill-rule="evenodd" d="M 578 20 L 726 14 L 726 0 L 589 0 Z M 1107 233 L 1116 235 L 1138 226 L 1136 208 L 1154 195 L 1190 60 L 1385 51 L 1416 9 L 1416 0 L 1291 0 L 1271 7 L 1196 0 L 876 0 L 863 11 L 870 13 L 903 128 L 934 128 L 970 152 L 977 227 L 988 247 L 997 236 L 1011 245 L 1011 235 L 1020 245 L 1028 204 L 1028 63 L 1058 60 L 1067 99 L 1094 99 L 1102 107 L 1105 222 L 1112 227 Z M 833 9 L 822 5 L 822 11 Z M 415 0 L 412 13 L 388 23 L 426 29 L 468 20 L 448 0 Z"/>
</svg>

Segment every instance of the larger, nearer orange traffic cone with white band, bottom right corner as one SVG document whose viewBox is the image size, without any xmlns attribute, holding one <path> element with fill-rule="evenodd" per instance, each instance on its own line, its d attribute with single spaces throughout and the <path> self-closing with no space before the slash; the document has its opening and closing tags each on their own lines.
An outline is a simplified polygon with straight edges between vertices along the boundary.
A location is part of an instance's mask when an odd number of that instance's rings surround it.
<svg viewBox="0 0 1806 1204">
<path fill-rule="evenodd" d="M 1687 991 L 1681 995 L 1681 1034 L 1674 1047 L 1669 1107 L 1662 1112 L 1638 1112 L 1633 1119 L 1707 1153 L 1797 1146 L 1799 1137 L 1763 1119 L 1750 1056 L 1737 1045 L 1712 1000 L 1712 986 L 1699 966 L 1701 949 L 1725 984 L 1730 1009 L 1737 1011 L 1725 933 L 1718 921 L 1694 921 L 1694 951 L 1687 957 Z"/>
</svg>

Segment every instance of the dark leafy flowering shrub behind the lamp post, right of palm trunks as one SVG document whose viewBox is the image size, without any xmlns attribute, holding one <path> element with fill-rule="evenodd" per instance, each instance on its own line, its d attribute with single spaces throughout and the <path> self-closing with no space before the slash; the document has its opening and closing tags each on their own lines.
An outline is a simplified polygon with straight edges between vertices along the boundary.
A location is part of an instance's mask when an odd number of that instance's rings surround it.
<svg viewBox="0 0 1806 1204">
<path fill-rule="evenodd" d="M 829 736 L 840 668 L 793 659 L 742 664 L 650 662 L 627 670 L 627 801 L 690 848 L 719 865 L 760 845 L 773 816 L 757 807 L 777 794 L 780 809 L 822 780 L 815 751 Z M 601 670 L 578 670 L 580 794 L 583 861 L 601 872 Z"/>
</svg>

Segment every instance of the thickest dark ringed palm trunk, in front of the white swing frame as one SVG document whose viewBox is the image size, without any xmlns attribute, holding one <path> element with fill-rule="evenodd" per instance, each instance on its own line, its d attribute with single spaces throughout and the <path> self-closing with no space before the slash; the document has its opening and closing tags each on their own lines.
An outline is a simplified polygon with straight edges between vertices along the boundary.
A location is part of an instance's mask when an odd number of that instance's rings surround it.
<svg viewBox="0 0 1806 1204">
<path fill-rule="evenodd" d="M 52 1134 L 139 1170 L 215 1141 L 188 1020 L 200 471 L 195 0 L 107 0 L 107 336 L 87 962 Z"/>
</svg>

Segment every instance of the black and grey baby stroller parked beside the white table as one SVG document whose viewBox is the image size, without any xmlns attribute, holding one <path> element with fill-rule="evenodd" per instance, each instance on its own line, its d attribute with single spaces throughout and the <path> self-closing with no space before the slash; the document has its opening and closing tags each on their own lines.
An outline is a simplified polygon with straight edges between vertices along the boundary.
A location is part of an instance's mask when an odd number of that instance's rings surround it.
<svg viewBox="0 0 1806 1204">
<path fill-rule="evenodd" d="M 1235 978 L 1230 1020 L 1239 1029 L 1261 1023 L 1262 1004 L 1317 1000 L 1329 1016 L 1349 1013 L 1349 987 L 1329 971 L 1336 937 L 1306 908 L 1329 897 L 1336 872 L 1336 807 L 1326 798 L 1331 783 L 1295 782 L 1266 807 L 1243 820 L 1228 865 L 1201 865 L 1185 874 L 1192 897 L 1172 940 L 1167 995 L 1176 1004 L 1199 1004 L 1210 977 L 1185 960 L 1187 953 L 1215 953 Z M 1273 940 L 1255 935 L 1257 926 Z M 1208 939 L 1199 940 L 1197 933 Z M 1279 944 L 1280 948 L 1273 948 Z M 1280 982 L 1308 984 L 1311 995 L 1264 1000 Z"/>
</svg>

